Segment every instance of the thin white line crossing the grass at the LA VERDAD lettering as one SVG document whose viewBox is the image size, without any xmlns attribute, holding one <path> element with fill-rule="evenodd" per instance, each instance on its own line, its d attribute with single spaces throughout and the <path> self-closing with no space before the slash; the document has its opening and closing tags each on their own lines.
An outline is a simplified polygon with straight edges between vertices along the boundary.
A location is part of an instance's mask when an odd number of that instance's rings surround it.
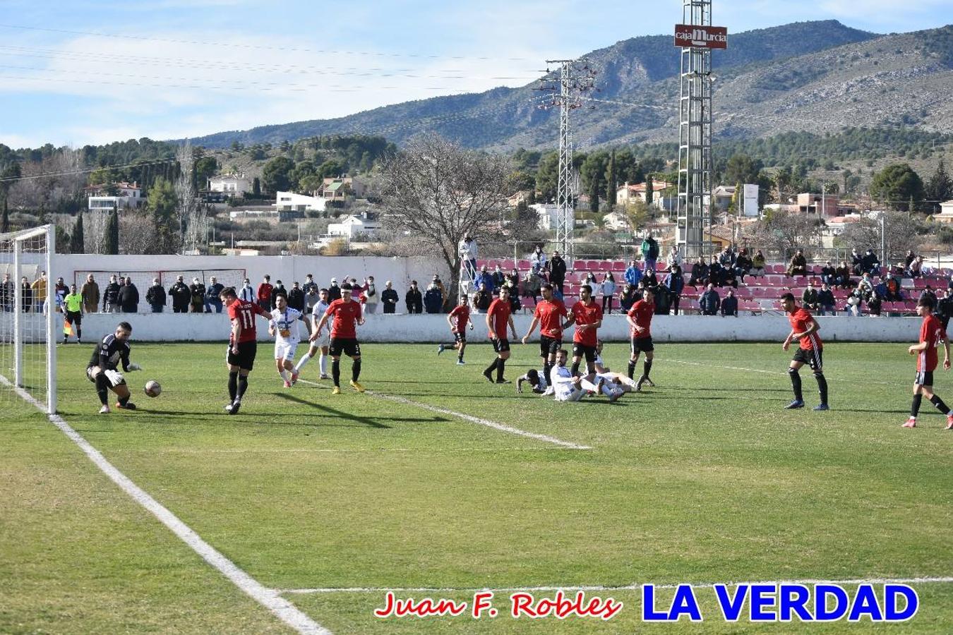
<svg viewBox="0 0 953 635">
<path fill-rule="evenodd" d="M 713 585 L 924 585 L 949 584 L 953 577 L 941 578 L 858 578 L 855 580 L 769 580 L 761 582 L 696 582 L 682 583 L 694 588 Z M 656 588 L 678 588 L 682 584 L 654 585 Z M 489 586 L 407 586 L 403 588 L 388 586 L 345 586 L 338 588 L 285 588 L 278 589 L 279 593 L 289 595 L 308 595 L 314 593 L 476 593 L 477 591 L 493 591 L 495 593 L 514 593 L 516 591 L 638 591 L 644 585 L 564 585 L 564 586 L 505 586 L 493 588 Z"/>
</svg>

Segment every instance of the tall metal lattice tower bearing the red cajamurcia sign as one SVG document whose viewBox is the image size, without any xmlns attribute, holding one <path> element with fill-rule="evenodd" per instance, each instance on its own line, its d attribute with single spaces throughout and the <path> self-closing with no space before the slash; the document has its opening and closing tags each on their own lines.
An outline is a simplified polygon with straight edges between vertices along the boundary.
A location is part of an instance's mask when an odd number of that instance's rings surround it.
<svg viewBox="0 0 953 635">
<path fill-rule="evenodd" d="M 727 30 L 712 27 L 711 0 L 682 0 L 675 28 L 679 74 L 679 205 L 677 244 L 683 258 L 704 255 L 711 229 L 712 49 L 726 49 Z"/>
</svg>

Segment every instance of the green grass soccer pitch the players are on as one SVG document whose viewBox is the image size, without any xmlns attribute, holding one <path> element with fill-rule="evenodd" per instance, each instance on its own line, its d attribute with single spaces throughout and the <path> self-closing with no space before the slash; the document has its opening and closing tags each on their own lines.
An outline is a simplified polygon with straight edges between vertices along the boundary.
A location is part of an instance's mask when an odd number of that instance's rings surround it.
<svg viewBox="0 0 953 635">
<path fill-rule="evenodd" d="M 361 382 L 281 387 L 258 350 L 228 416 L 224 344 L 137 344 L 135 412 L 99 416 L 91 346 L 59 348 L 59 404 L 113 466 L 261 585 L 335 633 L 738 632 L 700 587 L 705 621 L 642 623 L 654 583 L 862 581 L 953 576 L 953 432 L 924 400 L 902 429 L 905 345 L 829 344 L 829 412 L 791 399 L 775 345 L 657 347 L 658 387 L 558 404 L 488 384 L 488 345 L 467 366 L 435 346 L 365 345 Z M 514 347 L 507 376 L 537 365 Z M 624 370 L 625 345 L 606 363 Z M 639 368 L 640 368 L 639 364 Z M 156 379 L 163 393 L 142 394 Z M 937 372 L 953 403 L 953 374 Z M 293 632 L 138 506 L 44 415 L 0 414 L 0 632 Z M 953 632 L 953 584 L 912 583 L 916 617 L 811 631 Z M 511 592 L 595 587 L 624 603 L 609 621 L 514 619 Z M 844 584 L 851 591 L 856 584 Z M 622 588 L 618 588 L 622 587 Z M 401 598 L 472 600 L 496 618 L 376 618 Z M 432 589 L 432 590 L 418 590 Z M 552 590 L 533 591 L 553 597 Z M 670 589 L 657 605 L 668 607 Z M 796 625 L 780 626 L 791 630 Z"/>
</svg>

